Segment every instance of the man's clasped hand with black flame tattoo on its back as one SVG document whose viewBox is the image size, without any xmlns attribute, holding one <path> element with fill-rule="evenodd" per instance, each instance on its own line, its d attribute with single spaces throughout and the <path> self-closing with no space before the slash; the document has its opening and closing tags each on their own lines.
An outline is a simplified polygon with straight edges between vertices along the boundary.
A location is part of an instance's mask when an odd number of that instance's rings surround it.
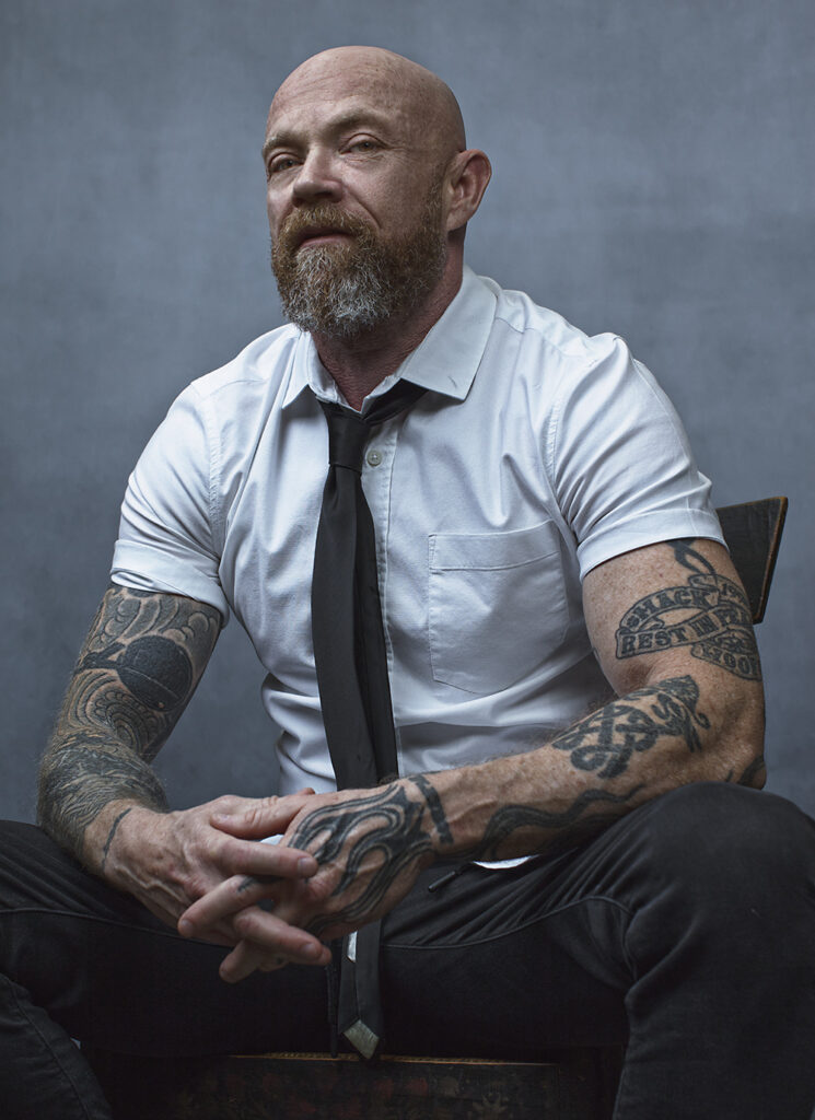
<svg viewBox="0 0 815 1120">
<path fill-rule="evenodd" d="M 228 879 L 189 907 L 179 930 L 200 936 L 231 921 L 244 937 L 222 964 L 222 977 L 232 981 L 279 954 L 281 923 L 324 939 L 358 930 L 392 909 L 432 862 L 428 815 L 421 787 L 400 780 L 376 790 L 269 799 L 213 816 L 213 824 L 233 837 L 284 831 L 279 849 L 308 851 L 319 869 L 297 883 Z M 259 903 L 271 903 L 274 913 Z"/>
</svg>

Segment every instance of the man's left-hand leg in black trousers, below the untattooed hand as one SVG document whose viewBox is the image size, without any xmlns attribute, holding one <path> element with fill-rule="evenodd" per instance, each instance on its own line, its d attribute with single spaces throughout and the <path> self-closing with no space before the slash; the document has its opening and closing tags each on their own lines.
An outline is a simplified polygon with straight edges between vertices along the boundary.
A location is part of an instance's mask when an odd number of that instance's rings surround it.
<svg viewBox="0 0 815 1120">
<path fill-rule="evenodd" d="M 9 1120 L 109 1120 L 77 1038 L 132 1054 L 322 1049 L 321 969 L 232 987 L 225 950 L 185 942 L 39 830 L 0 828 L 0 1100 Z"/>
</svg>

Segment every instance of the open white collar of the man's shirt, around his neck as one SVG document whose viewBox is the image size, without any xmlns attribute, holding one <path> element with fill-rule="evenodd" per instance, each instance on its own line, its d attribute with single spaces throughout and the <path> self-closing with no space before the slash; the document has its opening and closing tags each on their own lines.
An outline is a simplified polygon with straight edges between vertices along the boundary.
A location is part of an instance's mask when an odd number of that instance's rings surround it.
<svg viewBox="0 0 815 1120">
<path fill-rule="evenodd" d="M 400 367 L 385 377 L 365 401 L 386 393 L 401 377 L 462 401 L 487 345 L 495 307 L 496 297 L 490 288 L 465 265 L 461 287 L 444 314 Z M 334 379 L 319 360 L 311 335 L 303 332 L 294 349 L 283 408 L 307 388 L 322 400 L 344 403 Z"/>
</svg>

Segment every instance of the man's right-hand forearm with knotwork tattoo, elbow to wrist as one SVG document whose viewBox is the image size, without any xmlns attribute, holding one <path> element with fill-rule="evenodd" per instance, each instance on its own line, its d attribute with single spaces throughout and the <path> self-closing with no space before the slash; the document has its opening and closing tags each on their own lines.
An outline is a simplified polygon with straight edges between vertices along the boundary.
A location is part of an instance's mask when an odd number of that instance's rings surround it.
<svg viewBox="0 0 815 1120">
<path fill-rule="evenodd" d="M 716 694 L 690 673 L 648 684 L 527 754 L 425 776 L 443 810 L 442 829 L 425 815 L 434 856 L 555 852 L 680 785 L 760 784 L 761 724 L 760 687 Z"/>
</svg>

